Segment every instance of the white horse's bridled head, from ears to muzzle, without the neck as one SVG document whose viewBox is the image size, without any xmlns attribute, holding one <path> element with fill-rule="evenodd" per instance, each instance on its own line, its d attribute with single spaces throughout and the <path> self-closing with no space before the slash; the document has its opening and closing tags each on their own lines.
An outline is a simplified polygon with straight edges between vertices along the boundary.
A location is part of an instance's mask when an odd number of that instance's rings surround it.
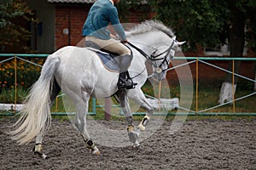
<svg viewBox="0 0 256 170">
<path fill-rule="evenodd" d="M 151 54 L 151 63 L 153 65 L 152 77 L 161 81 L 166 78 L 166 71 L 169 69 L 171 59 L 173 59 L 175 51 L 184 42 L 177 42 L 176 37 L 171 37 L 171 44 L 169 46 L 162 45 L 155 49 Z"/>
</svg>

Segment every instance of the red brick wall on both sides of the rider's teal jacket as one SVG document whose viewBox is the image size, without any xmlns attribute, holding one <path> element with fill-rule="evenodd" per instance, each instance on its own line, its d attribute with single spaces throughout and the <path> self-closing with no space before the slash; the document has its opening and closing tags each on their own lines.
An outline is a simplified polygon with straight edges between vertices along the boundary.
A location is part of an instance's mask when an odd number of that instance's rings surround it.
<svg viewBox="0 0 256 170">
<path fill-rule="evenodd" d="M 77 45 L 82 40 L 84 20 L 90 10 L 91 4 L 56 4 L 55 6 L 55 49 L 67 45 Z M 121 22 L 138 23 L 152 18 L 154 13 L 148 14 L 131 11 Z M 64 34 L 63 29 L 68 29 L 69 34 Z"/>
</svg>

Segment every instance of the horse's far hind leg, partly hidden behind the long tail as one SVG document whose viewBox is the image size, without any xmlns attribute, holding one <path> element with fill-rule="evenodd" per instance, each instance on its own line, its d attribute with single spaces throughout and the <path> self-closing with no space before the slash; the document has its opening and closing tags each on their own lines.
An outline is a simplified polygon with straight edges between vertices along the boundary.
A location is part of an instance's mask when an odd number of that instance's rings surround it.
<svg viewBox="0 0 256 170">
<path fill-rule="evenodd" d="M 61 88 L 58 83 L 54 80 L 51 94 L 50 94 L 50 103 L 49 106 L 51 107 L 55 101 L 56 96 L 60 93 Z M 44 130 L 41 130 L 36 137 L 36 144 L 33 149 L 34 154 L 43 157 L 44 159 L 47 157 L 43 152 L 43 139 L 44 139 Z"/>
</svg>

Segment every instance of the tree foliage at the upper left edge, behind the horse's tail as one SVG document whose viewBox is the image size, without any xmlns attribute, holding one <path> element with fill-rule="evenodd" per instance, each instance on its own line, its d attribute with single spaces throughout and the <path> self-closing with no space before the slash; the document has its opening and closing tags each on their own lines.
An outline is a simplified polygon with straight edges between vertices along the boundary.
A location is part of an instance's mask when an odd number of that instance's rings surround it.
<svg viewBox="0 0 256 170">
<path fill-rule="evenodd" d="M 3 52 L 6 46 L 19 48 L 20 42 L 30 37 L 26 28 L 16 24 L 17 20 L 32 20 L 32 11 L 23 0 L 0 1 L 0 50 Z"/>
</svg>

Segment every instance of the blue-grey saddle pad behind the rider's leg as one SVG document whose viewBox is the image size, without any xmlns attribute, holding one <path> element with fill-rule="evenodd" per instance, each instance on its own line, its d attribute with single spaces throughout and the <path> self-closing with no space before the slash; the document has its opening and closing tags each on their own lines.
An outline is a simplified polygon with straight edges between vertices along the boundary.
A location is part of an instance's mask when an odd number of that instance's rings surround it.
<svg viewBox="0 0 256 170">
<path fill-rule="evenodd" d="M 119 65 L 113 59 L 113 55 L 102 53 L 101 51 L 96 51 L 96 54 L 102 60 L 102 65 L 104 65 L 108 71 L 119 72 Z"/>
</svg>

